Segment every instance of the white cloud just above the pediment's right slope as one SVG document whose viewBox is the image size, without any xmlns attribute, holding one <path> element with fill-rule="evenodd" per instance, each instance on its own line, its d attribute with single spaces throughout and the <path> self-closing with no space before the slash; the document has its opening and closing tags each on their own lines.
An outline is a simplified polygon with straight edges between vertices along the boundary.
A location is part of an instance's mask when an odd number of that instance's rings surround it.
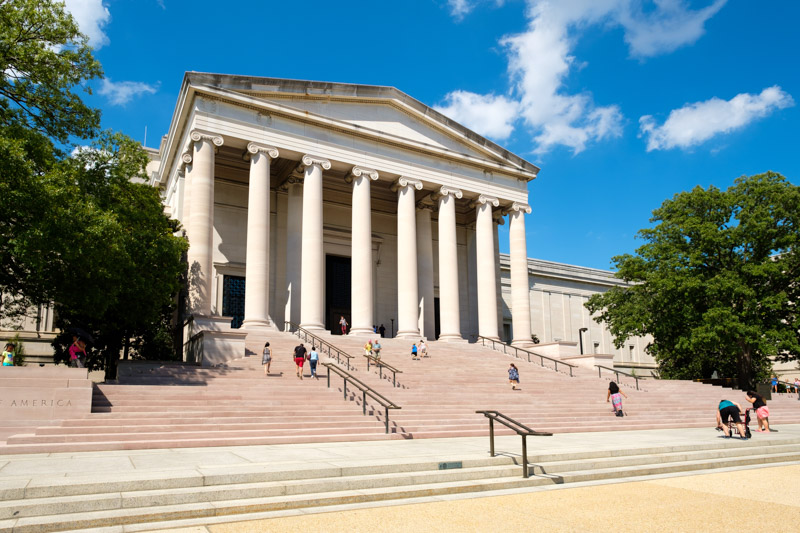
<svg viewBox="0 0 800 533">
<path fill-rule="evenodd" d="M 453 91 L 434 109 L 486 137 L 507 139 L 514 130 L 519 105 L 504 96 Z"/>
</svg>

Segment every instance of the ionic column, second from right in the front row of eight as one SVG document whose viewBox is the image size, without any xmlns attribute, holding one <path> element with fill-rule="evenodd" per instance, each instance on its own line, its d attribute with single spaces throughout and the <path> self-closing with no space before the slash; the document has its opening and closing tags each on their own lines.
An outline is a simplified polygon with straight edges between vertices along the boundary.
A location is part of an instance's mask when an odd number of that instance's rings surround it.
<svg viewBox="0 0 800 533">
<path fill-rule="evenodd" d="M 475 207 L 476 272 L 478 277 L 478 334 L 500 340 L 497 334 L 497 286 L 495 284 L 494 223 L 492 207 L 500 205 L 497 198 L 480 195 Z"/>
</svg>

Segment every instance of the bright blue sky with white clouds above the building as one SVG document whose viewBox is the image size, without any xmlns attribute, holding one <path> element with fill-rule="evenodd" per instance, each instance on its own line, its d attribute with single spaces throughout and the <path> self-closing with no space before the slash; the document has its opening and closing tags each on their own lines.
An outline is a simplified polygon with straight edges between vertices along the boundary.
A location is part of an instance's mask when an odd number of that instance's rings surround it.
<svg viewBox="0 0 800 533">
<path fill-rule="evenodd" d="M 104 127 L 157 146 L 187 70 L 391 85 L 541 167 L 531 257 L 608 269 L 675 193 L 800 179 L 790 0 L 67 5 L 105 69 Z"/>
</svg>

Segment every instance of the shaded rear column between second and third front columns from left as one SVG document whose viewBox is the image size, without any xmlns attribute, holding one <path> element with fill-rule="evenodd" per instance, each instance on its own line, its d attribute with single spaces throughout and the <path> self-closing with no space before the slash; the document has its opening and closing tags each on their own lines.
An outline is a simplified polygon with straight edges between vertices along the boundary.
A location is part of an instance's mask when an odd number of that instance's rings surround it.
<svg viewBox="0 0 800 533">
<path fill-rule="evenodd" d="M 286 180 L 286 309 L 284 316 L 300 324 L 300 265 L 303 251 L 303 184 L 299 176 Z"/>
</svg>

